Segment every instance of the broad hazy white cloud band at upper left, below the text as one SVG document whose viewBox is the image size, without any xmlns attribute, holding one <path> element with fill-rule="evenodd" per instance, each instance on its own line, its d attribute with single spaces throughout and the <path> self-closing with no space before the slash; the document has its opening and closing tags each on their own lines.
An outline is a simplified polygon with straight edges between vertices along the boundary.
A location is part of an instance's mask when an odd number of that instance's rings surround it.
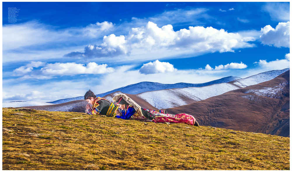
<svg viewBox="0 0 292 172">
<path fill-rule="evenodd" d="M 90 24 L 86 27 L 71 27 L 54 30 L 50 25 L 36 21 L 20 24 L 3 25 L 3 50 L 17 49 L 31 45 L 41 45 L 54 42 L 77 42 L 97 38 L 112 30 L 111 22 Z M 38 39 L 36 39 L 36 37 Z"/>
</svg>

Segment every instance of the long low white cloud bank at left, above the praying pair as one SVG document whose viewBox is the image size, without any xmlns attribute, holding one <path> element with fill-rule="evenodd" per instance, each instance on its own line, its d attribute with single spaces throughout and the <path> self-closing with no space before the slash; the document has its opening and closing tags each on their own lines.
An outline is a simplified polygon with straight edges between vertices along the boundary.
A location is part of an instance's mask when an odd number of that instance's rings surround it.
<svg viewBox="0 0 292 172">
<path fill-rule="evenodd" d="M 29 67 L 31 66 L 31 67 Z M 33 67 L 44 66 L 40 70 L 33 70 Z M 15 69 L 14 76 L 22 76 L 21 80 L 27 79 L 51 79 L 53 76 L 80 75 L 80 74 L 103 74 L 111 73 L 114 68 L 107 67 L 107 64 L 96 64 L 95 62 L 84 64 L 77 63 L 43 63 L 32 62 Z"/>
</svg>

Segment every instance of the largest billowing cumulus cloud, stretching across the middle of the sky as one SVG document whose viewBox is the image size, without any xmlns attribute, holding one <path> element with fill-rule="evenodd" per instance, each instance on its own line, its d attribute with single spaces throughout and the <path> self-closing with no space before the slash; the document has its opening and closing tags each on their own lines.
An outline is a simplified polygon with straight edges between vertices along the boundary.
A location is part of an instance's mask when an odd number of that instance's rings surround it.
<svg viewBox="0 0 292 172">
<path fill-rule="evenodd" d="M 161 28 L 157 24 L 148 22 L 145 27 L 132 28 L 128 35 L 114 34 L 105 36 L 99 46 L 89 45 L 85 52 L 72 52 L 66 56 L 108 57 L 129 55 L 131 50 L 144 49 L 151 52 L 155 49 L 175 49 L 182 51 L 188 49 L 194 53 L 202 52 L 234 52 L 233 49 L 254 47 L 249 44 L 251 38 L 246 39 L 238 33 L 228 33 L 224 29 L 213 27 L 190 26 L 189 29 L 173 30 L 172 25 Z"/>
</svg>

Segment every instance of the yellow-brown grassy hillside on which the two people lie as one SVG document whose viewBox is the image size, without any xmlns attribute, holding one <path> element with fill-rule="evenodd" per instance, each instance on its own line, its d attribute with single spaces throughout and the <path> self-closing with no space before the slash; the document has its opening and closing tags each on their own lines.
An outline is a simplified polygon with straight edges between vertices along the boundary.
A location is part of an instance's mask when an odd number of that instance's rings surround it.
<svg viewBox="0 0 292 172">
<path fill-rule="evenodd" d="M 289 137 L 76 112 L 2 112 L 3 170 L 290 170 Z"/>
</svg>

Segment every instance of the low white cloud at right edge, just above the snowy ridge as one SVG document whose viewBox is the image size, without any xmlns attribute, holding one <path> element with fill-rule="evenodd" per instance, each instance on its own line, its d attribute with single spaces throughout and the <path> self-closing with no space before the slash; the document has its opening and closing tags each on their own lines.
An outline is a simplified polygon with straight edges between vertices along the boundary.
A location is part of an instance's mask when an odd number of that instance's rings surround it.
<svg viewBox="0 0 292 172">
<path fill-rule="evenodd" d="M 281 70 L 290 68 L 290 53 L 285 55 L 285 59 L 276 59 L 270 62 L 267 62 L 267 60 L 259 60 L 258 62 L 254 62 L 254 64 L 259 65 L 260 68 L 265 70 Z"/>
</svg>

